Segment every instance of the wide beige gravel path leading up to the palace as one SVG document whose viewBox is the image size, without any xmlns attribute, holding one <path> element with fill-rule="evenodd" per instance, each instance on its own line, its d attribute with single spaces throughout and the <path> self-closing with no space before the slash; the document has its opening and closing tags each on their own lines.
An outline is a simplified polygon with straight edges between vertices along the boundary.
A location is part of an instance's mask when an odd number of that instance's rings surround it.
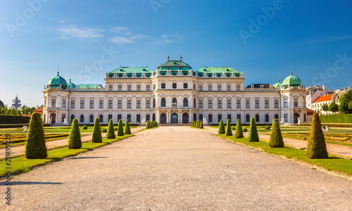
<svg viewBox="0 0 352 211">
<path fill-rule="evenodd" d="M 190 127 L 139 132 L 12 184 L 0 210 L 352 210 L 351 181 Z"/>
</svg>

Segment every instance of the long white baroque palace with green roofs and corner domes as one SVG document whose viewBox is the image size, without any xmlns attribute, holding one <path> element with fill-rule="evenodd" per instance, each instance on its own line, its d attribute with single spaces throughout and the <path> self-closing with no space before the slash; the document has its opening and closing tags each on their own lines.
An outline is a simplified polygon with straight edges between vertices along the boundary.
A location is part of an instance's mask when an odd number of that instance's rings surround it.
<svg viewBox="0 0 352 211">
<path fill-rule="evenodd" d="M 180 60 L 168 60 L 156 71 L 148 67 L 120 67 L 105 74 L 101 84 L 75 85 L 58 75 L 44 87 L 43 121 L 65 124 L 114 123 L 143 119 L 163 123 L 206 120 L 218 123 L 251 117 L 260 124 L 307 122 L 306 90 L 289 75 L 282 83 L 244 86 L 244 73 L 230 67 L 192 68 Z"/>
</svg>

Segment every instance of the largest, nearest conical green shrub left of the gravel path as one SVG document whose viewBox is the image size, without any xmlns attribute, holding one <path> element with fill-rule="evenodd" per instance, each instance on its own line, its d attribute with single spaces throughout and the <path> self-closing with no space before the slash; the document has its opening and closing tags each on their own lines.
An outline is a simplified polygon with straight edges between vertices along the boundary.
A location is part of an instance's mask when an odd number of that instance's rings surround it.
<svg viewBox="0 0 352 211">
<path fill-rule="evenodd" d="M 34 112 L 30 117 L 30 126 L 28 127 L 25 158 L 44 159 L 47 156 L 42 117 L 40 113 Z"/>
</svg>

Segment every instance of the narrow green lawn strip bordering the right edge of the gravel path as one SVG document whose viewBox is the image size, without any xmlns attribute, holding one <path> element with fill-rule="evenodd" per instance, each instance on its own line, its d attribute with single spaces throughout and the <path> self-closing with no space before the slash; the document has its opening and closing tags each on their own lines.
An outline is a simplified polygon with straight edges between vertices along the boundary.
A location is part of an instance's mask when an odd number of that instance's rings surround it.
<svg viewBox="0 0 352 211">
<path fill-rule="evenodd" d="M 223 134 L 217 135 L 222 139 L 231 139 L 234 142 L 244 143 L 247 146 L 253 146 L 256 148 L 261 148 L 266 153 L 274 155 L 284 155 L 286 158 L 294 158 L 296 160 L 302 160 L 304 162 L 309 162 L 320 167 L 324 167 L 327 170 L 334 170 L 337 172 L 343 172 L 348 175 L 352 175 L 352 160 L 337 158 L 333 155 L 329 155 L 329 159 L 309 159 L 306 158 L 306 151 L 299 150 L 296 148 L 291 148 L 285 146 L 284 148 L 270 148 L 268 142 L 249 142 L 247 138 L 244 139 L 234 139 L 234 136 L 225 136 Z"/>
</svg>

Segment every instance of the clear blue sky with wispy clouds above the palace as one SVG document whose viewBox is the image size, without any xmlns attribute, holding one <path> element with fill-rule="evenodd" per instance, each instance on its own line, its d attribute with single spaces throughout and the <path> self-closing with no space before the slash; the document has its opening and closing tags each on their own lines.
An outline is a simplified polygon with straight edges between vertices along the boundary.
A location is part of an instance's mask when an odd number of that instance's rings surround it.
<svg viewBox="0 0 352 211">
<path fill-rule="evenodd" d="M 352 86 L 351 1 L 0 0 L 0 100 L 43 104 L 56 75 L 103 84 L 121 66 L 180 59 L 227 66 L 246 85 L 291 70 L 303 84 Z"/>
</svg>

